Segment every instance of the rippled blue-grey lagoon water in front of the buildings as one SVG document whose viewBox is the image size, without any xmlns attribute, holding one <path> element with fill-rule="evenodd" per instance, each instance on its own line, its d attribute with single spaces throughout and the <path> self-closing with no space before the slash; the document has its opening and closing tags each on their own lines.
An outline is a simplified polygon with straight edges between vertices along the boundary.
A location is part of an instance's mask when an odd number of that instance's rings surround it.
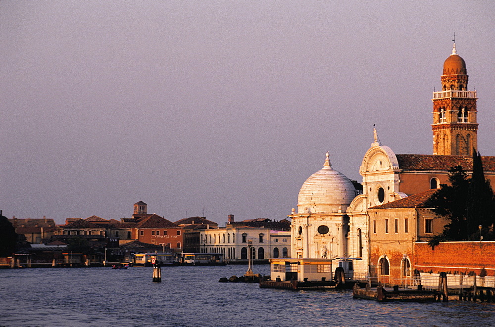
<svg viewBox="0 0 495 327">
<path fill-rule="evenodd" d="M 492 325 L 495 304 L 378 303 L 350 291 L 260 289 L 219 283 L 246 267 L 0 270 L 0 325 L 326 326 Z M 254 266 L 269 274 L 269 266 Z"/>
</svg>

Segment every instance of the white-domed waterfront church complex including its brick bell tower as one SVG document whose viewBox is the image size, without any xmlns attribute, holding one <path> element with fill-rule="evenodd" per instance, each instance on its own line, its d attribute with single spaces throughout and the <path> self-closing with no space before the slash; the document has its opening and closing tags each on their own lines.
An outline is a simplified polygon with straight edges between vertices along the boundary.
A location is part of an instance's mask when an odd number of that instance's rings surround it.
<svg viewBox="0 0 495 327">
<path fill-rule="evenodd" d="M 425 201 L 448 182 L 448 169 L 472 173 L 477 149 L 477 93 L 468 89 L 466 63 L 452 53 L 444 62 L 442 91 L 433 93 L 433 154 L 396 154 L 379 143 L 376 130 L 359 174 L 362 194 L 332 167 L 311 175 L 298 195 L 292 220 L 292 261 L 272 261 L 272 275 L 303 280 L 332 279 L 336 267 L 349 278 L 412 276 L 413 244 L 443 231 Z M 485 176 L 495 182 L 495 157 L 482 157 Z M 277 271 L 274 271 L 277 270 Z M 297 273 L 296 273 L 297 272 Z"/>
</svg>

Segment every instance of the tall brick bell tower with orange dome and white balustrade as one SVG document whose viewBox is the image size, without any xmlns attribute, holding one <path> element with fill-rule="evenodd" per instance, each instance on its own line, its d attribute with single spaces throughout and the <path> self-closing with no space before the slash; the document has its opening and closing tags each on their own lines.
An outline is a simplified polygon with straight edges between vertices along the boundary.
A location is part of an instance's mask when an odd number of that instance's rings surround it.
<svg viewBox="0 0 495 327">
<path fill-rule="evenodd" d="M 442 91 L 433 93 L 433 154 L 471 155 L 478 148 L 476 91 L 467 91 L 466 63 L 455 50 L 444 62 Z"/>
</svg>

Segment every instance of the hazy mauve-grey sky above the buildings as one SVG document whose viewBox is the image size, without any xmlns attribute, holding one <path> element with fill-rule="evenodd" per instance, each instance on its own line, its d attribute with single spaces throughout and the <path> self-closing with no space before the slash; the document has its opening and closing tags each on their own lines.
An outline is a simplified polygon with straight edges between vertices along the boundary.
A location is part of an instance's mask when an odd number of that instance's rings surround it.
<svg viewBox="0 0 495 327">
<path fill-rule="evenodd" d="M 495 155 L 493 1 L 0 1 L 0 209 L 11 218 L 281 220 L 373 142 L 432 154 L 464 58 Z"/>
</svg>

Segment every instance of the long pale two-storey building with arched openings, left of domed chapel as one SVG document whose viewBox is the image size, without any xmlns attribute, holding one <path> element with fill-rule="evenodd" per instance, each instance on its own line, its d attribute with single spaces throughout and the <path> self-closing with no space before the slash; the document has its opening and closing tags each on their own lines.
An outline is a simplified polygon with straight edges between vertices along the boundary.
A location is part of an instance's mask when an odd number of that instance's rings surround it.
<svg viewBox="0 0 495 327">
<path fill-rule="evenodd" d="M 247 260 L 247 241 L 252 240 L 252 258 L 290 258 L 291 232 L 265 227 L 230 227 L 203 230 L 199 233 L 201 253 L 223 253 L 225 260 Z"/>
</svg>

